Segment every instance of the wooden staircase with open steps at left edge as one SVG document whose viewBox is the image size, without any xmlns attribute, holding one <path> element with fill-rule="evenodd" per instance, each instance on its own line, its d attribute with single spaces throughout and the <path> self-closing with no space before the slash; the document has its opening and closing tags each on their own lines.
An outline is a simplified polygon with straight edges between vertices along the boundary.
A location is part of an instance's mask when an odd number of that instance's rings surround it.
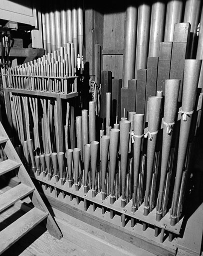
<svg viewBox="0 0 203 256">
<path fill-rule="evenodd" d="M 49 233 L 60 239 L 60 229 L 36 190 L 1 123 L 0 144 L 7 156 L 6 160 L 0 162 L 0 175 L 15 170 L 21 181 L 17 186 L 0 194 L 0 212 L 28 195 L 34 205 L 31 210 L 0 231 L 0 254 L 44 219 Z"/>
</svg>

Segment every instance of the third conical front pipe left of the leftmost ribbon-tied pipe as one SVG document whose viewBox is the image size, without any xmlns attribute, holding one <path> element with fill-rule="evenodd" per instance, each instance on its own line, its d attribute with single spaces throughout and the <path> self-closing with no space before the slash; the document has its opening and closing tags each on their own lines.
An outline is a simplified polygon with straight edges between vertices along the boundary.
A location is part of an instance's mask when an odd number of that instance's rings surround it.
<svg viewBox="0 0 203 256">
<path fill-rule="evenodd" d="M 108 153 L 109 153 L 109 136 L 103 135 L 101 137 L 101 193 L 102 193 L 102 200 L 104 200 L 106 198 L 105 179 L 106 179 Z"/>
</svg>

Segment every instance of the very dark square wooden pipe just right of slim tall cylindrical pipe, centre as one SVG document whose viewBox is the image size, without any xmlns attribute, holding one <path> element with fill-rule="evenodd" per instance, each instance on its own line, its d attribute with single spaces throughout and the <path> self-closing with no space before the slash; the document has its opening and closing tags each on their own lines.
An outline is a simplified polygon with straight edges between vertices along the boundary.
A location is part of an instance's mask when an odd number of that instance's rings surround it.
<svg viewBox="0 0 203 256">
<path fill-rule="evenodd" d="M 118 116 L 118 121 L 121 118 L 121 87 L 121 79 L 112 79 L 112 124 L 116 123 L 116 116 Z"/>
</svg>

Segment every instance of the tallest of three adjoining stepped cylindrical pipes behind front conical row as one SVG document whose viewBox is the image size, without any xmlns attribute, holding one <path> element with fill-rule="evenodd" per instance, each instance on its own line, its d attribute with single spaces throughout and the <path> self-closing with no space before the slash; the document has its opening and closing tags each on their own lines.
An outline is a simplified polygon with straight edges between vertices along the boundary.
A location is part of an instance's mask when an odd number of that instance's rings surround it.
<svg viewBox="0 0 203 256">
<path fill-rule="evenodd" d="M 89 101 L 89 141 L 96 139 L 95 101 Z"/>
</svg>

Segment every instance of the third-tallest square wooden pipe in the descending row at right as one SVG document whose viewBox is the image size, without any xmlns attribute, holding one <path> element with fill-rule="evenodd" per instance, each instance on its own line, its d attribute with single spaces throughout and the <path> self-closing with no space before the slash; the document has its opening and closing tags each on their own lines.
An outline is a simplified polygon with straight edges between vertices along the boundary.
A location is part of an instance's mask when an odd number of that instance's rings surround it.
<svg viewBox="0 0 203 256">
<path fill-rule="evenodd" d="M 157 68 L 158 68 L 158 57 L 148 57 L 145 102 L 147 102 L 148 97 L 156 96 Z M 145 115 L 146 115 L 146 111 L 147 111 L 147 104 L 145 104 Z"/>
</svg>

